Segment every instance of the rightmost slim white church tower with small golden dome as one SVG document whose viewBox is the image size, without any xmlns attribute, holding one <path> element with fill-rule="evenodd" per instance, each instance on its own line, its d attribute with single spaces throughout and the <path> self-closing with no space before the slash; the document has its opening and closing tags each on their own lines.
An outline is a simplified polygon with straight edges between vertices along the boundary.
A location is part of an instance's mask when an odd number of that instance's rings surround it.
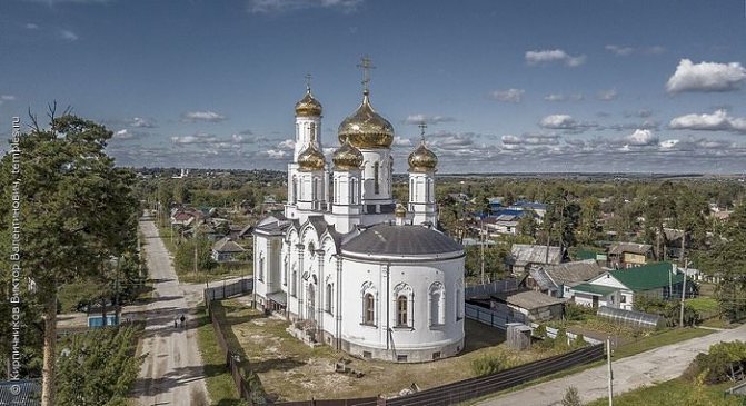
<svg viewBox="0 0 746 406">
<path fill-rule="evenodd" d="M 435 202 L 435 171 L 438 157 L 425 145 L 425 123 L 421 123 L 419 146 L 409 154 L 409 211 L 412 214 L 412 224 L 429 222 L 434 227 L 438 222 Z"/>
</svg>

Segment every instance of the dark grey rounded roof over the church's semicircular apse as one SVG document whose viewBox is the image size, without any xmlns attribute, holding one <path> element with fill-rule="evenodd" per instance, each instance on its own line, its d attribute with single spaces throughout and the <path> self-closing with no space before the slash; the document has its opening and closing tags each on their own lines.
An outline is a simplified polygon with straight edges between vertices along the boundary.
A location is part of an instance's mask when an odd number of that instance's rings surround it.
<svg viewBox="0 0 746 406">
<path fill-rule="evenodd" d="M 412 225 L 380 224 L 342 242 L 342 251 L 370 255 L 437 255 L 462 250 L 460 244 L 445 234 Z"/>
</svg>

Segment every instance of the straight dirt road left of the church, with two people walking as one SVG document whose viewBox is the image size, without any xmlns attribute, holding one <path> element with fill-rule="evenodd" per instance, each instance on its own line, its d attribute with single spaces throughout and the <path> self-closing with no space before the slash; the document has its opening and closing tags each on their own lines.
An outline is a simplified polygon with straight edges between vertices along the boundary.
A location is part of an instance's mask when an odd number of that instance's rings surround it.
<svg viewBox="0 0 746 406">
<path fill-rule="evenodd" d="M 209 405 L 197 331 L 190 311 L 200 299 L 199 290 L 179 285 L 163 241 L 152 220 L 140 220 L 147 239 L 145 255 L 153 279 L 152 301 L 146 309 L 142 354 L 146 360 L 136 383 L 138 405 Z M 185 327 L 173 320 L 185 315 Z"/>
</svg>

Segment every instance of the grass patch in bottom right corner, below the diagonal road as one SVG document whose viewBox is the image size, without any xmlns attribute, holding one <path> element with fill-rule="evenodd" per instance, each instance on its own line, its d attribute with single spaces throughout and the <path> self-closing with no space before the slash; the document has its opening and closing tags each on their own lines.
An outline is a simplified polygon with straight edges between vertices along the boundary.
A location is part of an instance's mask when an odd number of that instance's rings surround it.
<svg viewBox="0 0 746 406">
<path fill-rule="evenodd" d="M 645 387 L 615 396 L 615 406 L 737 406 L 743 405 L 744 399 L 729 396 L 725 397 L 725 389 L 733 386 L 733 383 L 719 385 L 705 385 L 697 388 L 696 385 L 682 378 L 676 378 L 660 383 L 655 386 Z M 606 406 L 608 398 L 598 399 L 586 406 Z"/>
</svg>

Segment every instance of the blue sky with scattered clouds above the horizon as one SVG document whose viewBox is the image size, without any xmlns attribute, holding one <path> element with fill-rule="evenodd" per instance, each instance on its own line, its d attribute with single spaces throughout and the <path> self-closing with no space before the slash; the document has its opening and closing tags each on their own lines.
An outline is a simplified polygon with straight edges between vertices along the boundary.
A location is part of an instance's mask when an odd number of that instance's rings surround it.
<svg viewBox="0 0 746 406">
<path fill-rule="evenodd" d="M 0 135 L 51 100 L 125 166 L 284 169 L 306 73 L 321 141 L 360 101 L 428 122 L 441 172 L 746 171 L 746 3 L 3 0 Z"/>
</svg>

